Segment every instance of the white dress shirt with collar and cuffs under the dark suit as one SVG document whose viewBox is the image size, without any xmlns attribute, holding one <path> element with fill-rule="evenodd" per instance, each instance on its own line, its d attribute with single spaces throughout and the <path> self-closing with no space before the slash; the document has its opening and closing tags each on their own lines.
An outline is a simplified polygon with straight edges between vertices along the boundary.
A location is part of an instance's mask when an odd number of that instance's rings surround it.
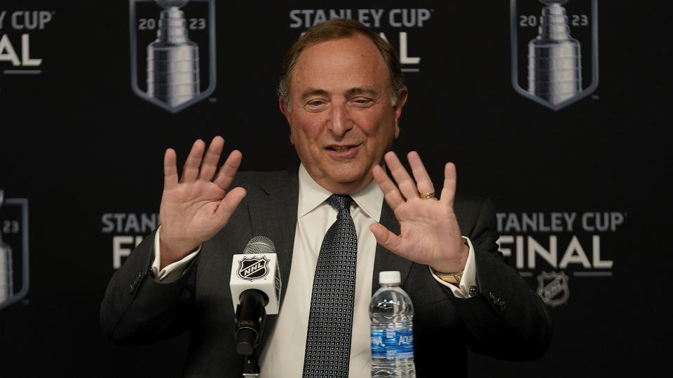
<svg viewBox="0 0 673 378">
<path fill-rule="evenodd" d="M 318 263 L 318 254 L 322 239 L 329 226 L 337 220 L 337 210 L 325 200 L 332 195 L 318 185 L 306 172 L 304 165 L 299 167 L 299 206 L 297 208 L 297 228 L 294 233 L 294 251 L 290 279 L 285 284 L 285 297 L 280 307 L 278 321 L 273 335 L 259 358 L 260 377 L 301 377 L 304 370 L 304 352 L 306 351 L 306 333 L 308 315 L 311 308 L 313 275 Z M 372 278 L 374 276 L 374 255 L 376 239 L 369 225 L 380 221 L 383 207 L 383 192 L 376 181 L 358 193 L 351 195 L 351 216 L 358 233 L 358 262 L 355 272 L 355 302 L 353 304 L 353 332 L 351 358 L 348 376 L 351 378 L 370 377 L 372 363 L 371 339 L 369 337 L 369 300 L 372 297 Z M 184 272 L 199 249 L 159 270 L 159 242 L 156 233 L 155 258 L 152 269 L 156 280 L 175 281 Z M 475 283 L 475 262 L 473 246 L 463 237 L 470 247 L 468 262 L 463 269 L 460 286 L 444 282 L 431 273 L 428 274 L 444 286 L 451 289 L 456 297 L 469 297 L 468 288 Z M 413 298 L 412 298 L 413 300 Z"/>
</svg>

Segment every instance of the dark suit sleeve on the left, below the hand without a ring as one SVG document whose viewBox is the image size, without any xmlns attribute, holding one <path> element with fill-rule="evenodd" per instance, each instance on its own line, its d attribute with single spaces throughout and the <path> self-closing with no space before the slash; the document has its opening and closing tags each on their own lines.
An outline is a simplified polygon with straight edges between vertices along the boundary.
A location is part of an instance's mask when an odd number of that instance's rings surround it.
<svg viewBox="0 0 673 378">
<path fill-rule="evenodd" d="M 153 259 L 154 233 L 132 251 L 112 276 L 100 307 L 102 330 L 111 341 L 154 342 L 189 328 L 198 255 L 188 271 L 171 283 L 154 280 Z"/>
</svg>

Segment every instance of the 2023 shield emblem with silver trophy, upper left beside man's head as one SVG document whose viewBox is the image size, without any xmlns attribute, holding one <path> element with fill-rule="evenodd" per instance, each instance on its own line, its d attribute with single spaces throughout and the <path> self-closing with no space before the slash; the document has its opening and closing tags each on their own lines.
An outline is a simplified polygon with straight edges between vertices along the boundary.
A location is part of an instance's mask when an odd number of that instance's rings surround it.
<svg viewBox="0 0 673 378">
<path fill-rule="evenodd" d="M 215 0 L 129 0 L 131 87 L 175 113 L 215 90 Z"/>
</svg>

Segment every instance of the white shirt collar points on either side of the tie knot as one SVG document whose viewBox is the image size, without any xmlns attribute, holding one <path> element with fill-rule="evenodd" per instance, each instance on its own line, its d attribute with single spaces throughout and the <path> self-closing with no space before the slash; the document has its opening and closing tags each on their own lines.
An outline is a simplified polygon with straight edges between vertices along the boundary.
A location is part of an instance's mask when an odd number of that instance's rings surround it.
<svg viewBox="0 0 673 378">
<path fill-rule="evenodd" d="M 332 195 L 329 190 L 322 188 L 320 184 L 316 183 L 304 164 L 299 165 L 299 209 L 297 215 L 299 217 L 305 216 L 316 207 L 320 206 L 329 196 Z M 353 201 L 358 204 L 358 207 L 376 222 L 380 221 L 381 208 L 383 207 L 383 192 L 379 188 L 379 184 L 372 180 L 369 185 L 358 193 L 352 194 Z"/>
</svg>

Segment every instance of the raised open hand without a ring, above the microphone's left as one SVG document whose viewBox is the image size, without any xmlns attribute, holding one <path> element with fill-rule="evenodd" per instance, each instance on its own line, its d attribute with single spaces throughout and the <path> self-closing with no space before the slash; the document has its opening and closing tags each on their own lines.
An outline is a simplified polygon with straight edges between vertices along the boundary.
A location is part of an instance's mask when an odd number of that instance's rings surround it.
<svg viewBox="0 0 673 378">
<path fill-rule="evenodd" d="M 160 269 L 182 260 L 222 230 L 245 197 L 245 189 L 240 187 L 227 192 L 243 157 L 240 151 L 232 151 L 215 176 L 223 146 L 222 137 L 213 138 L 204 156 L 205 142 L 195 141 L 179 181 L 175 151 L 172 148 L 166 150 L 159 209 Z"/>
</svg>

